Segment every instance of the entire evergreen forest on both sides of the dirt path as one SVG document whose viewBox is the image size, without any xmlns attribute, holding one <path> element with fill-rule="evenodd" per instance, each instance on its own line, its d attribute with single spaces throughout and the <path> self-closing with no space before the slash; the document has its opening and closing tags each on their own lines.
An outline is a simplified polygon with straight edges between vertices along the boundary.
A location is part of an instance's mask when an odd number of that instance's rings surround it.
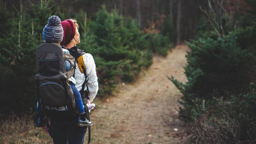
<svg viewBox="0 0 256 144">
<path fill-rule="evenodd" d="M 256 0 L 0 1 L 0 112 L 33 114 L 35 49 L 51 15 L 76 18 L 99 94 L 131 82 L 176 44 L 191 49 L 179 114 L 197 143 L 256 143 Z"/>
</svg>

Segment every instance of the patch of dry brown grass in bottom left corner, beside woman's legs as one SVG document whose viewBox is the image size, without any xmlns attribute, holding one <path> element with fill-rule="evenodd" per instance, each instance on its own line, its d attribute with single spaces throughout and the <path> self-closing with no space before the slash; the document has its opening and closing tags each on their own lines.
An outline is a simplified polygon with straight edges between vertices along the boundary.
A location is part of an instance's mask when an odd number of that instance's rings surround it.
<svg viewBox="0 0 256 144">
<path fill-rule="evenodd" d="M 3 120 L 3 118 L 5 120 Z M 33 126 L 33 116 L 1 116 L 0 144 L 50 144 L 50 137 Z"/>
</svg>

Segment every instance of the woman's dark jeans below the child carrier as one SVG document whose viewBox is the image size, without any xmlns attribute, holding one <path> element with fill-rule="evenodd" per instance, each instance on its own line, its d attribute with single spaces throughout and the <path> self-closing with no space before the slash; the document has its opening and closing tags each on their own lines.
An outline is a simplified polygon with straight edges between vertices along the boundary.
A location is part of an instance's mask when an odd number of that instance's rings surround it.
<svg viewBox="0 0 256 144">
<path fill-rule="evenodd" d="M 54 144 L 83 144 L 86 126 L 76 126 L 76 117 L 65 115 L 50 116 L 49 132 Z"/>
</svg>

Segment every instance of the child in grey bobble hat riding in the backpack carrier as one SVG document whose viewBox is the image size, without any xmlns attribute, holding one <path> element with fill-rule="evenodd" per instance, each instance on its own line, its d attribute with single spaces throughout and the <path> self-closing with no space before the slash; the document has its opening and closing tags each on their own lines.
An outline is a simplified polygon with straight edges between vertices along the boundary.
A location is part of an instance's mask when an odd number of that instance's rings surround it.
<svg viewBox="0 0 256 144">
<path fill-rule="evenodd" d="M 42 37 L 45 42 L 55 42 L 60 44 L 60 42 L 63 39 L 63 28 L 60 25 L 60 18 L 58 16 L 51 16 L 48 19 L 48 24 L 44 27 Z M 58 33 L 56 33 L 58 32 Z M 64 53 L 68 53 L 68 50 L 63 49 Z M 71 64 L 68 60 L 65 60 L 65 67 L 66 71 L 70 70 Z M 90 126 L 92 122 L 87 120 L 86 114 L 84 112 L 84 106 L 82 103 L 82 98 L 76 87 L 74 86 L 76 81 L 73 77 L 69 78 L 68 81 L 70 82 L 70 86 L 72 88 L 72 91 L 74 92 L 75 102 L 76 102 L 76 109 L 78 110 L 79 116 L 77 123 L 79 126 Z M 88 105 L 89 109 L 93 109 L 95 104 Z M 40 103 L 37 102 L 37 109 L 36 109 L 36 118 L 34 121 L 35 127 L 42 127 L 42 120 L 43 120 L 43 114 L 41 110 Z"/>
</svg>

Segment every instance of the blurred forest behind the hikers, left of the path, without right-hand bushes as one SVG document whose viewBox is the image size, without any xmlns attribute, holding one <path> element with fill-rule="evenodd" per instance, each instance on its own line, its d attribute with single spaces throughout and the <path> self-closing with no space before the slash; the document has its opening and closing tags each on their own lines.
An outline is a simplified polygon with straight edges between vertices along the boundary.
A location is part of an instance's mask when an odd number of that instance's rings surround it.
<svg viewBox="0 0 256 144">
<path fill-rule="evenodd" d="M 204 0 L 1 1 L 1 113 L 22 114 L 34 108 L 34 52 L 51 15 L 78 20 L 78 46 L 94 56 L 98 97 L 104 97 L 118 82 L 130 82 L 148 68 L 153 53 L 166 56 L 173 44 L 193 38 L 202 15 L 199 6 L 206 4 Z"/>
</svg>

